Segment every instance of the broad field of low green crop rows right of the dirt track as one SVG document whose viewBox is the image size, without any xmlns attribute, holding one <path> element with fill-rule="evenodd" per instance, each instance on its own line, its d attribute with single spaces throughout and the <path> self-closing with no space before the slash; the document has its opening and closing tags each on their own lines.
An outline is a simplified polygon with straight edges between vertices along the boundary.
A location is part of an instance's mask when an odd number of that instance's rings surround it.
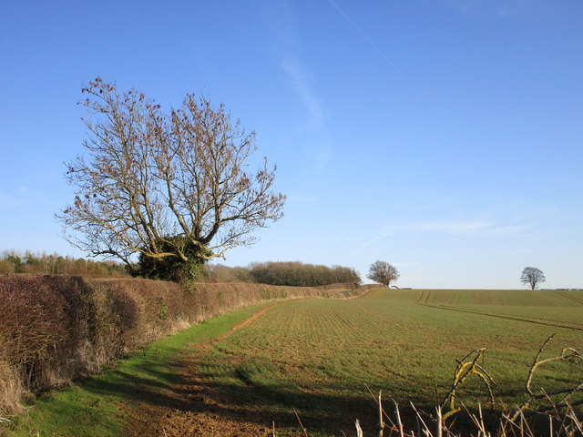
<svg viewBox="0 0 583 437">
<path fill-rule="evenodd" d="M 543 357 L 583 347 L 583 293 L 547 290 L 372 290 L 354 300 L 302 300 L 271 308 L 216 342 L 198 362 L 200 376 L 253 417 L 275 422 L 278 435 L 365 435 L 377 423 L 370 391 L 435 411 L 456 359 L 486 348 L 480 365 L 496 381 L 496 401 L 526 399 L 537 351 Z M 537 371 L 533 387 L 558 390 L 583 381 L 583 366 L 555 362 Z M 367 388 L 368 387 L 368 388 Z M 469 378 L 460 392 L 469 408 L 488 401 Z"/>
</svg>

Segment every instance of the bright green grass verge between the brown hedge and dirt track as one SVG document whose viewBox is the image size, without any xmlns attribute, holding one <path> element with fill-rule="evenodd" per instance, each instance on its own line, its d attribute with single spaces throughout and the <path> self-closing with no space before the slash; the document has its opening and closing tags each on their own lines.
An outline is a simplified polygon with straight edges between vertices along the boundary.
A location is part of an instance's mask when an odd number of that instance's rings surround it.
<svg viewBox="0 0 583 437">
<path fill-rule="evenodd" d="M 16 437 L 120 436 L 127 426 L 121 406 L 148 391 L 179 382 L 177 361 L 196 344 L 214 339 L 235 324 L 248 319 L 267 304 L 233 311 L 203 321 L 176 335 L 156 341 L 144 350 L 119 360 L 114 368 L 72 387 L 51 391 L 36 398 L 27 412 L 15 417 L 0 435 Z"/>
</svg>

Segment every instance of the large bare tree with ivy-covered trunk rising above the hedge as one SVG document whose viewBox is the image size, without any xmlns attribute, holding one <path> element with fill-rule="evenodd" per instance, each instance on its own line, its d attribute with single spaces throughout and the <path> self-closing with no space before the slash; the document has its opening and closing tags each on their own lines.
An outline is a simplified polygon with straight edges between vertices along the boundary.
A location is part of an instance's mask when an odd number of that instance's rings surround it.
<svg viewBox="0 0 583 437">
<path fill-rule="evenodd" d="M 249 170 L 255 133 L 224 106 L 189 94 L 165 113 L 100 77 L 82 92 L 87 157 L 68 164 L 75 201 L 57 214 L 77 248 L 128 265 L 136 255 L 204 261 L 253 243 L 252 231 L 281 219 L 275 167 L 263 158 Z"/>
</svg>

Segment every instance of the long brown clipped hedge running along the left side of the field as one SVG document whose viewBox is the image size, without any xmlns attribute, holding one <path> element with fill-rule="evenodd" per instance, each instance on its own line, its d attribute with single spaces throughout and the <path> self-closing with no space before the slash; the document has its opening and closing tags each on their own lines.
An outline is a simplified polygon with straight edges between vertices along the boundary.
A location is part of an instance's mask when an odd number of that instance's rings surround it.
<svg viewBox="0 0 583 437">
<path fill-rule="evenodd" d="M 0 275 L 0 414 L 18 412 L 26 392 L 99 371 L 193 323 L 266 300 L 347 298 L 370 287 Z"/>
</svg>

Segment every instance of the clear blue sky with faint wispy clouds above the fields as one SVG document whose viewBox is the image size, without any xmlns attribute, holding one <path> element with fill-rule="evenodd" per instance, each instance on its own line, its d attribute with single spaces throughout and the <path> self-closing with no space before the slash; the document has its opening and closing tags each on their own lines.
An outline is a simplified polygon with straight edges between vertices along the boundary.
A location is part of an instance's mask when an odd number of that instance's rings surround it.
<svg viewBox="0 0 583 437">
<path fill-rule="evenodd" d="M 227 265 L 583 287 L 579 0 L 4 0 L 0 251 L 82 255 L 54 214 L 97 75 L 166 107 L 207 94 L 257 132 L 285 217 Z"/>
</svg>

